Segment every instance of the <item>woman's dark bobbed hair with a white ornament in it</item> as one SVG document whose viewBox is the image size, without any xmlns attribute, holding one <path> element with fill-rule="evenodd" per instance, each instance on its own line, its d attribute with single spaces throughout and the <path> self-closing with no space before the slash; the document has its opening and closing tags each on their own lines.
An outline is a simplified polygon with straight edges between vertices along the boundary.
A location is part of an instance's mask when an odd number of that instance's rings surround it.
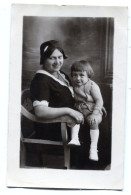
<svg viewBox="0 0 131 195">
<path fill-rule="evenodd" d="M 64 50 L 62 49 L 59 41 L 50 40 L 41 44 L 40 46 L 40 64 L 43 65 L 44 61 L 51 56 L 55 49 L 58 49 L 62 54 L 63 58 L 66 59 Z"/>
</svg>

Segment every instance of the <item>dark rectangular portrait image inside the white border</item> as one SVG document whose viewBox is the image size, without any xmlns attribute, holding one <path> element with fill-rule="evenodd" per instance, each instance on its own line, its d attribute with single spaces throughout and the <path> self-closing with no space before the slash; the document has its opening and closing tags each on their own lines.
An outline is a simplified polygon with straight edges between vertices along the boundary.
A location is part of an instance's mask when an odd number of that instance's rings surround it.
<svg viewBox="0 0 131 195">
<path fill-rule="evenodd" d="M 21 167 L 110 169 L 113 35 L 114 18 L 23 17 Z"/>
</svg>

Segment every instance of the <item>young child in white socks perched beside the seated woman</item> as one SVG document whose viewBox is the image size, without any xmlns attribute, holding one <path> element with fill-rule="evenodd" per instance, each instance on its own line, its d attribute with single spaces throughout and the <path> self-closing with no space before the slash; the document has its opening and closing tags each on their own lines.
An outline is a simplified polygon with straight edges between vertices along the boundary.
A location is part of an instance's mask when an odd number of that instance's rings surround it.
<svg viewBox="0 0 131 195">
<path fill-rule="evenodd" d="M 93 75 L 94 72 L 89 61 L 76 61 L 71 67 L 76 101 L 75 107 L 84 115 L 84 120 L 86 120 L 90 126 L 91 145 L 89 159 L 98 161 L 97 144 L 99 139 L 99 124 L 102 121 L 102 111 L 105 111 L 105 109 L 103 107 L 100 88 L 90 79 Z M 74 126 L 71 128 L 72 139 L 68 143 L 69 145 L 74 143 L 74 135 L 78 137 L 78 133 L 78 127 L 76 128 L 76 126 Z"/>
</svg>

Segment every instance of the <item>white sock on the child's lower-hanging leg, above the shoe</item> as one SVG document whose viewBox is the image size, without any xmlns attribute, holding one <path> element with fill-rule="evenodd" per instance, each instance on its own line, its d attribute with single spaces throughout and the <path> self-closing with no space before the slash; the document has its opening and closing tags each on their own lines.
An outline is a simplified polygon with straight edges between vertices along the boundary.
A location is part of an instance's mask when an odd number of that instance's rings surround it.
<svg viewBox="0 0 131 195">
<path fill-rule="evenodd" d="M 97 149 L 97 143 L 99 139 L 99 129 L 90 129 L 91 145 L 90 149 Z"/>
</svg>

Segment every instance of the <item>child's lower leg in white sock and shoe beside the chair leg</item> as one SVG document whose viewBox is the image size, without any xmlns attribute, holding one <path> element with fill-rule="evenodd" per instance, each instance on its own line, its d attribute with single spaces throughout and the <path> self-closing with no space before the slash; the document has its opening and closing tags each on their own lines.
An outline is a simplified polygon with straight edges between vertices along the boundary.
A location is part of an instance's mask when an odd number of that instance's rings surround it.
<svg viewBox="0 0 131 195">
<path fill-rule="evenodd" d="M 79 137 L 78 137 L 79 129 L 80 129 L 80 125 L 75 125 L 74 127 L 71 127 L 71 141 L 68 143 L 68 145 L 80 146 Z"/>
</svg>

